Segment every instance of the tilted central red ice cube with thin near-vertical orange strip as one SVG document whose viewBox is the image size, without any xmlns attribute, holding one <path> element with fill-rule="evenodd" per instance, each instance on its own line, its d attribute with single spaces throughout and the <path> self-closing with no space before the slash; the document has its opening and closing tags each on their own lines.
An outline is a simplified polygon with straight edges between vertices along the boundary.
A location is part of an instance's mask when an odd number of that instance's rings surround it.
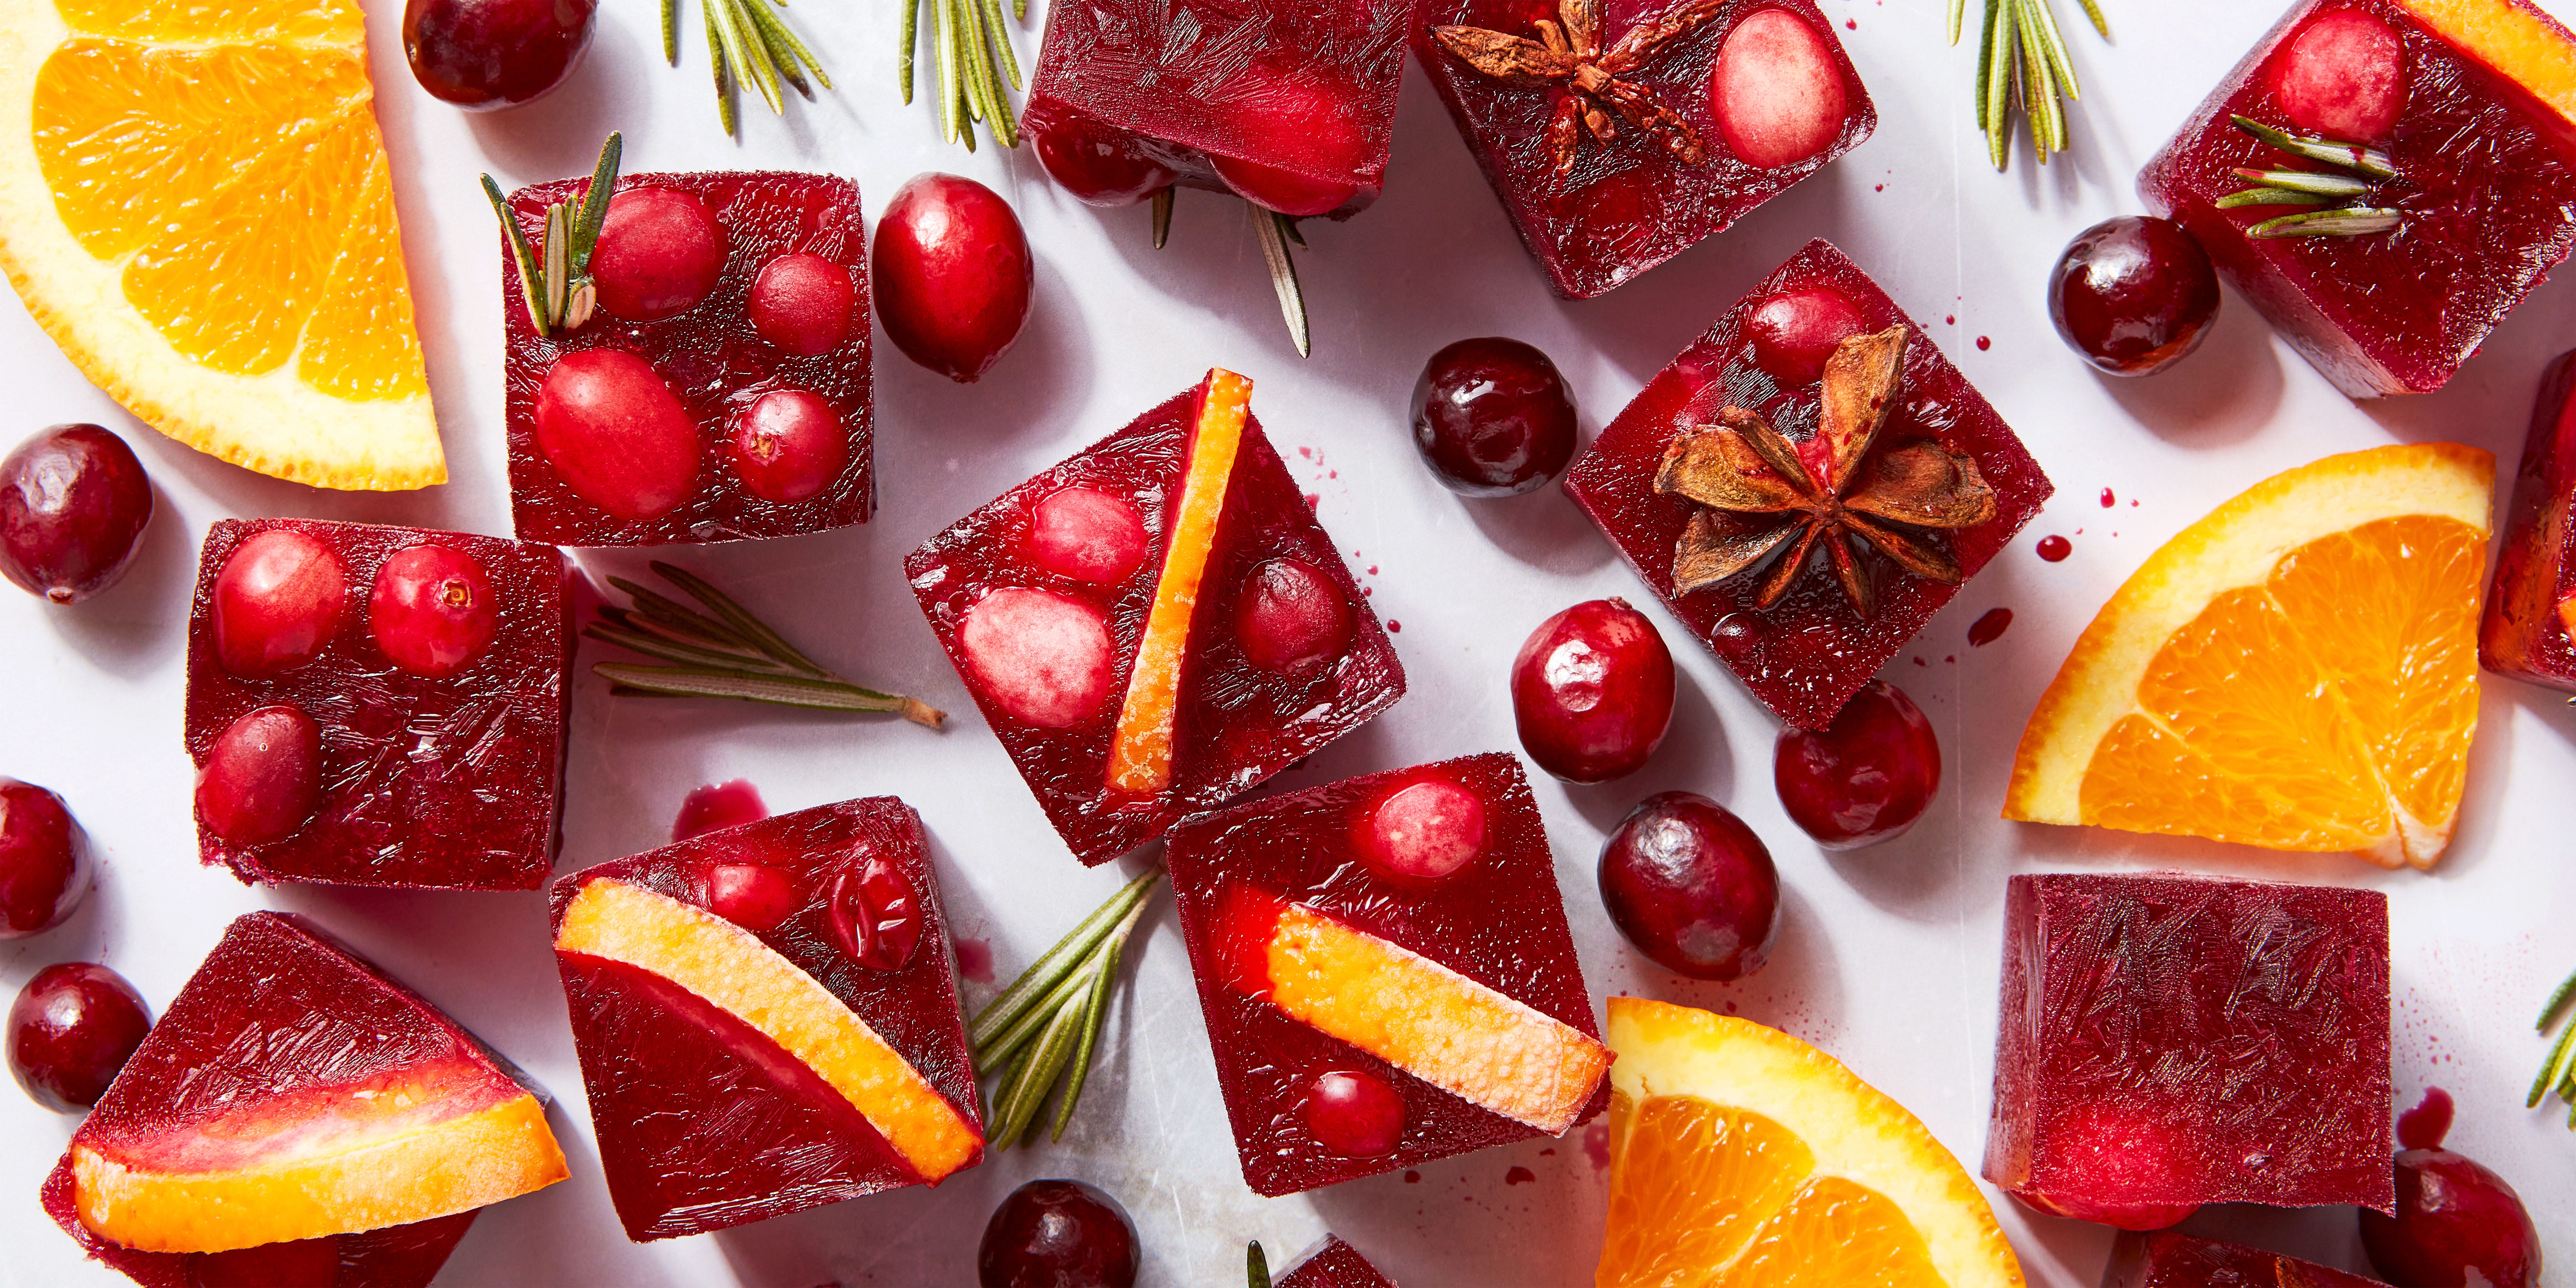
<svg viewBox="0 0 2576 1288">
<path fill-rule="evenodd" d="M 976 708 L 1082 863 L 1252 791 L 1404 696 L 1386 629 L 1260 420 L 1218 417 L 1229 453 L 1195 451 L 1211 389 L 1224 410 L 1249 381 L 1211 374 L 904 562 Z M 1193 505 L 1193 489 L 1213 505 Z M 1211 526 L 1190 523 L 1206 510 Z M 1167 569 L 1195 572 L 1195 587 L 1164 595 Z M 1172 639 L 1157 623 L 1185 626 L 1177 649 L 1149 647 Z M 1154 701 L 1167 719 L 1151 719 Z"/>
</svg>

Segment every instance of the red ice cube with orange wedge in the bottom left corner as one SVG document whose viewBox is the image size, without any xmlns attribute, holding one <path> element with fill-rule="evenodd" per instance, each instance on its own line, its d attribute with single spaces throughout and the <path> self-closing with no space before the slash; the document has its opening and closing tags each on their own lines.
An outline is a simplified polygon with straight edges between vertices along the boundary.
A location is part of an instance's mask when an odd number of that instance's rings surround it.
<svg viewBox="0 0 2576 1288">
<path fill-rule="evenodd" d="M 72 1133 L 44 1203 L 137 1283 L 191 1255 L 428 1283 L 474 1211 L 564 1180 L 546 1105 L 312 922 L 250 912 Z M 268 1249 L 327 1239 L 330 1249 Z"/>
</svg>

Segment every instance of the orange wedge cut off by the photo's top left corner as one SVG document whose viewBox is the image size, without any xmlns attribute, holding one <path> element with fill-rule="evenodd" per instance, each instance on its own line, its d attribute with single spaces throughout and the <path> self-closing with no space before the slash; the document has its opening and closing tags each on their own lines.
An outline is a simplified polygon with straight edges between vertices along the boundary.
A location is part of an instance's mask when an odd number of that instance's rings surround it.
<svg viewBox="0 0 2576 1288">
<path fill-rule="evenodd" d="M 180 443 L 446 482 L 355 0 L 0 0 L 0 270 Z"/>
</svg>

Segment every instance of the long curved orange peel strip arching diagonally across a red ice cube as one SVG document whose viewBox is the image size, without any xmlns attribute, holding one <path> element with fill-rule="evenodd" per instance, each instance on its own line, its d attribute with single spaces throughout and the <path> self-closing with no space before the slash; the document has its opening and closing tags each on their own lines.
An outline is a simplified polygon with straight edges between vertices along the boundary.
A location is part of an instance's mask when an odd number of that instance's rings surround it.
<svg viewBox="0 0 2576 1288">
<path fill-rule="evenodd" d="M 966 1167 L 984 1136 L 832 989 L 724 917 L 626 881 L 590 881 L 554 948 L 623 961 L 757 1028 L 832 1084 L 927 1182 Z"/>
</svg>

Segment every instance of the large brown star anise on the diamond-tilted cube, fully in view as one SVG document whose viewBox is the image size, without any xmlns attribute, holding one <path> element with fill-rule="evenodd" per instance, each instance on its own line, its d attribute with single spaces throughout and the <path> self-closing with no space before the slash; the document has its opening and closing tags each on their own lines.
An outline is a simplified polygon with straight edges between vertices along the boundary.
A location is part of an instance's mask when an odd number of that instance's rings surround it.
<svg viewBox="0 0 2576 1288">
<path fill-rule="evenodd" d="M 1726 407 L 1718 425 L 1700 425 L 1664 448 L 1654 489 L 1700 502 L 1672 556 L 1674 595 L 1777 554 L 1754 590 L 1754 608 L 1772 608 L 1788 598 L 1808 554 L 1824 546 L 1842 595 L 1868 618 L 1878 611 L 1878 590 L 1860 564 L 1860 541 L 1914 577 L 1958 585 L 1958 559 L 1917 528 L 1976 528 L 1994 518 L 1994 489 L 1968 453 L 1932 438 L 1878 448 L 1904 355 L 1906 327 L 1834 345 L 1816 438 L 1806 443 L 1790 443 L 1744 407 Z"/>
</svg>

